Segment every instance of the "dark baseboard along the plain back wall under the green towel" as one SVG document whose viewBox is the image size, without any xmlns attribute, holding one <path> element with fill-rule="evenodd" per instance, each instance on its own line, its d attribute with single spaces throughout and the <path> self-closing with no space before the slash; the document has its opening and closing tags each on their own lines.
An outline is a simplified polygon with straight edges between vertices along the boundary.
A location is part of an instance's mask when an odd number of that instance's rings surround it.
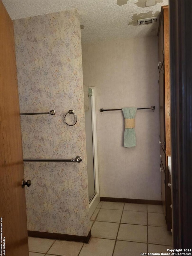
<svg viewBox="0 0 192 256">
<path fill-rule="evenodd" d="M 143 200 L 143 199 L 117 198 L 117 197 L 100 197 L 100 201 L 162 205 L 162 201 L 158 201 L 158 200 Z"/>
</svg>

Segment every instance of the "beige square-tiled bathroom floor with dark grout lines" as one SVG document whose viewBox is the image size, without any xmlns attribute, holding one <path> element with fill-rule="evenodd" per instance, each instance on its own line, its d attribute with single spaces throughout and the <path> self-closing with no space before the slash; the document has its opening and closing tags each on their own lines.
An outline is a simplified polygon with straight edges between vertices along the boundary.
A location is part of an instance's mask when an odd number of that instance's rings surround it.
<svg viewBox="0 0 192 256">
<path fill-rule="evenodd" d="M 100 202 L 90 228 L 88 244 L 29 237 L 29 256 L 137 256 L 172 248 L 159 205 Z"/>
</svg>

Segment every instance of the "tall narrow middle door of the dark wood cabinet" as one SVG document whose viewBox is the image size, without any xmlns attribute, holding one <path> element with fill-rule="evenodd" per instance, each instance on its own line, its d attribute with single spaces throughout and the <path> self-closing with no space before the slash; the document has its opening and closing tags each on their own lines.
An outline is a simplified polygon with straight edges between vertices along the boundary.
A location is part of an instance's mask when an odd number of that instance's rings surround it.
<svg viewBox="0 0 192 256">
<path fill-rule="evenodd" d="M 165 85 L 164 66 L 159 73 L 159 115 L 160 115 L 160 141 L 165 150 Z"/>
</svg>

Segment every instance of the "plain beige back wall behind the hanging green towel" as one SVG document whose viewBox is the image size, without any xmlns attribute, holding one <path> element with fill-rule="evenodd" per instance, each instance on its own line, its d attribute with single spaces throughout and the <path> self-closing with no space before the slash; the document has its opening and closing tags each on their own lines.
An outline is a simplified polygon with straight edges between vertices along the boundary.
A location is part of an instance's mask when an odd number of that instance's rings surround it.
<svg viewBox="0 0 192 256">
<path fill-rule="evenodd" d="M 158 38 L 136 38 L 82 47 L 83 82 L 95 86 L 101 197 L 161 200 Z M 123 146 L 122 111 L 137 110 L 137 146 Z"/>
</svg>

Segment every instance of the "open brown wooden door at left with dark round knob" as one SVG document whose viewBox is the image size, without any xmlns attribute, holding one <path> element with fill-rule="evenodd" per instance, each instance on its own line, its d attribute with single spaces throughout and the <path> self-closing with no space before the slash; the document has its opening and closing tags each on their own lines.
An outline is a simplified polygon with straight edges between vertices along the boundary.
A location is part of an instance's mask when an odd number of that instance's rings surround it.
<svg viewBox="0 0 192 256">
<path fill-rule="evenodd" d="M 0 0 L 1 255 L 28 256 L 23 155 L 13 23 Z M 2 239 L 1 239 L 2 238 Z"/>
</svg>

